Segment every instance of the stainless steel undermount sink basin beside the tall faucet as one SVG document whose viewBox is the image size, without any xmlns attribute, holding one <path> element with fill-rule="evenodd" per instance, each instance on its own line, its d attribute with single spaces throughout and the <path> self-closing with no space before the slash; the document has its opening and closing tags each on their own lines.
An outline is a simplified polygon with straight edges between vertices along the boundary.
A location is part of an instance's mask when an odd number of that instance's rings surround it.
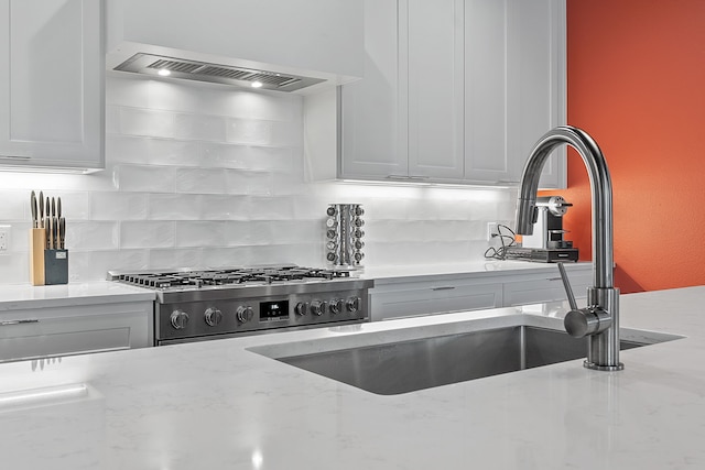
<svg viewBox="0 0 705 470">
<path fill-rule="evenodd" d="M 621 349 L 677 339 L 658 334 Z M 555 329 L 509 326 L 325 352 L 281 362 L 381 395 L 394 395 L 584 358 L 586 339 Z M 268 354 L 265 354 L 268 356 Z"/>
</svg>

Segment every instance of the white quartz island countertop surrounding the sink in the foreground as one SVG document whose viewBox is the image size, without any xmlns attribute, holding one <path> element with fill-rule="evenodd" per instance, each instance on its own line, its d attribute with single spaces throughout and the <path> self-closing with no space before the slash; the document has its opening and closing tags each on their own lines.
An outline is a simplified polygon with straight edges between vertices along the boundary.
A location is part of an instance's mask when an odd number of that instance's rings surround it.
<svg viewBox="0 0 705 470">
<path fill-rule="evenodd" d="M 247 348 L 391 340 L 496 316 L 558 321 L 565 306 L 1 364 L 2 468 L 702 469 L 704 305 L 705 287 L 622 296 L 623 327 L 686 338 L 622 351 L 621 372 L 576 360 L 390 396 Z"/>
</svg>

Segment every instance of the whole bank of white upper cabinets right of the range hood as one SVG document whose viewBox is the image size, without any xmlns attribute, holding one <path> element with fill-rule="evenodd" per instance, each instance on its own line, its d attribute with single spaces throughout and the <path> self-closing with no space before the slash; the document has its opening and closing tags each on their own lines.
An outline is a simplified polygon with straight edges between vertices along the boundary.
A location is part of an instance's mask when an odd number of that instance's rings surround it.
<svg viewBox="0 0 705 470">
<path fill-rule="evenodd" d="M 516 184 L 533 144 L 565 122 L 565 1 L 367 9 L 365 78 L 341 91 L 337 177 Z M 542 187 L 564 187 L 564 151 L 549 162 Z"/>
</svg>

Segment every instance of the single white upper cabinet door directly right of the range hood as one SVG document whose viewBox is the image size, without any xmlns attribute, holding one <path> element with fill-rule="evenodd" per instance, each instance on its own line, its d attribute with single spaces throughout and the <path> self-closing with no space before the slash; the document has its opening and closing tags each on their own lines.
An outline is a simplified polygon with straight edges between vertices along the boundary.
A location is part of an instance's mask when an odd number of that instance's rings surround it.
<svg viewBox="0 0 705 470">
<path fill-rule="evenodd" d="M 365 78 L 340 89 L 340 178 L 408 175 L 397 50 L 397 0 L 367 0 Z"/>
</svg>

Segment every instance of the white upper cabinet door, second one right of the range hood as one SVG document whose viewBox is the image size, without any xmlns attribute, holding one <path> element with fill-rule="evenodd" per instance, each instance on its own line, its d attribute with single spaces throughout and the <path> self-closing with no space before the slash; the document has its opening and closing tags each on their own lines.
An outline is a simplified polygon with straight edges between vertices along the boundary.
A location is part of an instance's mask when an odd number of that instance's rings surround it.
<svg viewBox="0 0 705 470">
<path fill-rule="evenodd" d="M 462 179 L 464 1 L 404 0 L 399 7 L 409 175 Z"/>
</svg>

